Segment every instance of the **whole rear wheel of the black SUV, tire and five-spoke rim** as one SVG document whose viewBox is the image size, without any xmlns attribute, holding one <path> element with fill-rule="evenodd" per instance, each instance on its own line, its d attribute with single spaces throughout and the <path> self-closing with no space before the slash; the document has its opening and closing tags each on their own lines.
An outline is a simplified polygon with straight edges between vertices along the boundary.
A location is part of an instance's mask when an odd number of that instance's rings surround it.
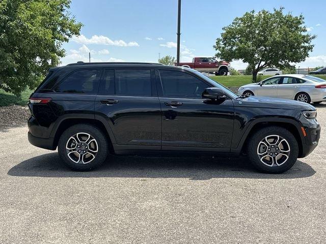
<svg viewBox="0 0 326 244">
<path fill-rule="evenodd" d="M 62 133 L 58 153 L 68 167 L 88 171 L 103 164 L 108 154 L 108 142 L 97 127 L 77 124 Z"/>
</svg>

